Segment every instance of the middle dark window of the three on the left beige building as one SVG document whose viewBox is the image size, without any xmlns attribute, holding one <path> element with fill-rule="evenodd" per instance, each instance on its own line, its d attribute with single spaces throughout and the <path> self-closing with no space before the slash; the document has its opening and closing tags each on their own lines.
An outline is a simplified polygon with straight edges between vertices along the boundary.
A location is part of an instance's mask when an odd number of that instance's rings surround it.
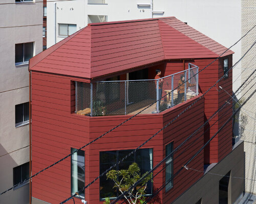
<svg viewBox="0 0 256 204">
<path fill-rule="evenodd" d="M 15 127 L 28 124 L 29 102 L 15 105 Z"/>
</svg>

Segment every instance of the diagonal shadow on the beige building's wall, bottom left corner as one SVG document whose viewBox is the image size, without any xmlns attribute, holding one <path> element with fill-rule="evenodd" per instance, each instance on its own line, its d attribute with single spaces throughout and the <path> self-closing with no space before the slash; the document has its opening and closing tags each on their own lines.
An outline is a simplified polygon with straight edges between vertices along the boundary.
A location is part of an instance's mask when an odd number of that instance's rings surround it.
<svg viewBox="0 0 256 204">
<path fill-rule="evenodd" d="M 18 165 L 1 144 L 0 152 L 0 192 L 3 192 L 13 186 L 13 168 Z M 29 184 L 0 195 L 0 203 L 29 203 Z"/>
</svg>

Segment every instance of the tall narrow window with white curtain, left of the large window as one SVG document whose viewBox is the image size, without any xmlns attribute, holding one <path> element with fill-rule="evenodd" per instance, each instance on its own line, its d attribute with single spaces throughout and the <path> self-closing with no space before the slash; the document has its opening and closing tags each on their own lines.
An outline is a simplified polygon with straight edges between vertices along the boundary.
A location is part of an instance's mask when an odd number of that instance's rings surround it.
<svg viewBox="0 0 256 204">
<path fill-rule="evenodd" d="M 75 148 L 71 148 L 71 152 L 74 152 Z M 78 150 L 71 156 L 71 194 L 74 195 L 85 185 L 84 183 L 84 151 Z M 80 197 L 84 198 L 84 192 L 79 193 Z"/>
</svg>

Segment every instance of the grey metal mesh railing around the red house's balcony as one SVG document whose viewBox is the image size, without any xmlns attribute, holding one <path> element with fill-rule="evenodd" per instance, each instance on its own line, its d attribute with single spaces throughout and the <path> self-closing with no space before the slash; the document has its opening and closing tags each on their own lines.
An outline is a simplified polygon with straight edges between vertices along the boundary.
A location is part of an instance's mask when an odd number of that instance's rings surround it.
<svg viewBox="0 0 256 204">
<path fill-rule="evenodd" d="M 158 80 L 75 82 L 75 112 L 80 115 L 159 113 L 198 95 L 198 66 Z M 187 81 L 187 83 L 183 83 Z M 178 87 L 178 88 L 177 88 Z"/>
</svg>

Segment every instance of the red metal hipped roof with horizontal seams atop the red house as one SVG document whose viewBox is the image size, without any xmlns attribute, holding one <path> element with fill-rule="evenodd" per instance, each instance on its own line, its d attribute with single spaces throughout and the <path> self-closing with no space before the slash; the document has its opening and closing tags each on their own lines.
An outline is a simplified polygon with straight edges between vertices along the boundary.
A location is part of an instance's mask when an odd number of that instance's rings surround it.
<svg viewBox="0 0 256 204">
<path fill-rule="evenodd" d="M 29 68 L 91 79 L 165 59 L 216 58 L 225 49 L 175 17 L 92 23 L 33 57 Z"/>
</svg>

